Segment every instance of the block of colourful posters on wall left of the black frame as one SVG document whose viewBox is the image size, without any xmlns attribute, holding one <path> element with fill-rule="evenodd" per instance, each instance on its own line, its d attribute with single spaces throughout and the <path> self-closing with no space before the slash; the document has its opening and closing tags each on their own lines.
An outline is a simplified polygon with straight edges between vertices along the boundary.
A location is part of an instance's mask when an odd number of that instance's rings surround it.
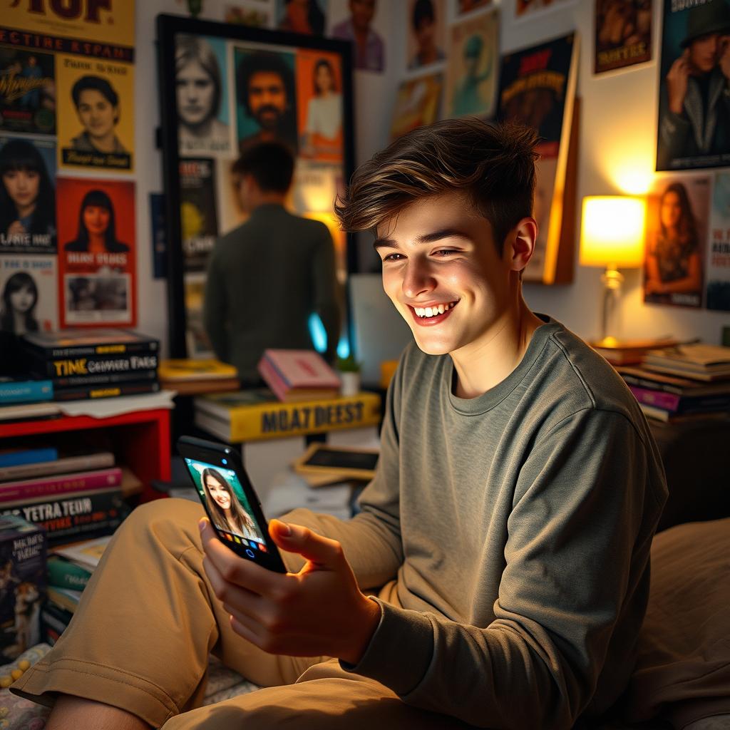
<svg viewBox="0 0 730 730">
<path fill-rule="evenodd" d="M 134 1 L 42 9 L 0 21 L 0 330 L 134 326 Z"/>
</svg>

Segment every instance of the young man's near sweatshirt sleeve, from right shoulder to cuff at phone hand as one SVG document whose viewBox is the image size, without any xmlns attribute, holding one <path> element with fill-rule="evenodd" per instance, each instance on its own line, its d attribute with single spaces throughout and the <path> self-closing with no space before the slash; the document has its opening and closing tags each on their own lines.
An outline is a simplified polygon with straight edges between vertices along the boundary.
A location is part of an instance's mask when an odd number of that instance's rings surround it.
<svg viewBox="0 0 730 730">
<path fill-rule="evenodd" d="M 477 727 L 572 727 L 627 596 L 648 580 L 648 545 L 635 545 L 647 480 L 645 448 L 623 415 L 569 416 L 520 469 L 494 621 L 471 626 L 379 601 L 369 647 L 343 668 Z M 638 630 L 645 603 L 631 606 Z"/>
</svg>

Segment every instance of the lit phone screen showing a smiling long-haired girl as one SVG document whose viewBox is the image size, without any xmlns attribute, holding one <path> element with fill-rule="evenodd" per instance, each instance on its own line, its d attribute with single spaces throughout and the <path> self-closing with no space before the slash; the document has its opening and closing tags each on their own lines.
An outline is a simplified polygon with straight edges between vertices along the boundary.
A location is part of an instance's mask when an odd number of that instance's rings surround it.
<svg viewBox="0 0 730 730">
<path fill-rule="evenodd" d="M 221 538 L 266 553 L 264 531 L 256 521 L 232 469 L 186 458 L 185 465 Z"/>
</svg>

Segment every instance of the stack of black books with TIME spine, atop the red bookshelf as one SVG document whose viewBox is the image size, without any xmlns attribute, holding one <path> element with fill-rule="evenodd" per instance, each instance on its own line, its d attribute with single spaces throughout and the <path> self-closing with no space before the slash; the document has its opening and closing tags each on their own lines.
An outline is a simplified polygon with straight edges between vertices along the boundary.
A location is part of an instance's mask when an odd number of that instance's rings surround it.
<svg viewBox="0 0 730 730">
<path fill-rule="evenodd" d="M 53 399 L 71 401 L 159 391 L 159 342 L 123 329 L 23 335 L 28 372 L 50 381 Z"/>
</svg>

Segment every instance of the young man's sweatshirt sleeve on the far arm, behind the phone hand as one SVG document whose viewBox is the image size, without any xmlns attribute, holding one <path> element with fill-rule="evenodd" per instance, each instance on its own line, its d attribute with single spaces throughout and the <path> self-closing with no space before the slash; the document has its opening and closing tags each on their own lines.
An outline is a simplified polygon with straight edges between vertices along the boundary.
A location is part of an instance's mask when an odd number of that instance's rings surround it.
<svg viewBox="0 0 730 730">
<path fill-rule="evenodd" d="M 402 361 L 385 398 L 380 458 L 373 480 L 358 500 L 361 512 L 351 520 L 310 510 L 293 510 L 285 520 L 339 540 L 363 590 L 377 588 L 396 576 L 403 562 L 399 515 L 398 409 L 401 400 Z M 291 564 L 290 564 L 291 561 Z M 289 570 L 299 570 L 303 561 L 287 554 Z"/>
</svg>

